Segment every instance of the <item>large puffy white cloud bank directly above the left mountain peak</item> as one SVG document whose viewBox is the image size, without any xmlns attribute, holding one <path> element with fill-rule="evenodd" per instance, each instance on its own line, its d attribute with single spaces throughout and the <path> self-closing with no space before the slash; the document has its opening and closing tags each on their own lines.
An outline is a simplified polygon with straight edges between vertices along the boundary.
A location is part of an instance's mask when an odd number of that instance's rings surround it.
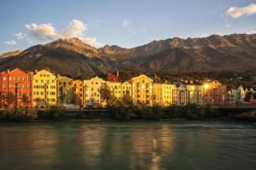
<svg viewBox="0 0 256 170">
<path fill-rule="evenodd" d="M 97 20 L 97 23 L 101 21 Z M 68 39 L 71 37 L 78 37 L 83 42 L 90 44 L 96 48 L 102 47 L 102 42 L 97 42 L 95 37 L 84 37 L 85 31 L 88 30 L 87 25 L 81 20 L 72 20 L 66 29 L 61 31 L 56 31 L 55 27 L 50 23 L 48 24 L 26 24 L 26 28 L 29 31 L 29 35 L 33 40 L 40 42 L 53 41 L 57 38 Z M 29 39 L 32 42 L 31 39 Z"/>
</svg>

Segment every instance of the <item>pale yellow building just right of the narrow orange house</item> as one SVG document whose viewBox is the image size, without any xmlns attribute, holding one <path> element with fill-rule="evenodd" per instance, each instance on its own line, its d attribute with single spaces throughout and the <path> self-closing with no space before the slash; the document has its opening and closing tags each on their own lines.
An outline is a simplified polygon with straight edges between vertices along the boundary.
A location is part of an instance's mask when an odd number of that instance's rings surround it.
<svg viewBox="0 0 256 170">
<path fill-rule="evenodd" d="M 84 106 L 102 105 L 100 88 L 107 82 L 100 77 L 84 80 Z"/>
</svg>

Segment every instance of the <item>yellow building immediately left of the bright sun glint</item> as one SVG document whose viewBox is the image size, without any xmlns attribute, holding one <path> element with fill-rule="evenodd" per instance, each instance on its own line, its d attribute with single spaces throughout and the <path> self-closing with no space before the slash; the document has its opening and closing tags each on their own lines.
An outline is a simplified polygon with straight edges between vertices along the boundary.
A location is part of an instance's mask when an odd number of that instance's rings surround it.
<svg viewBox="0 0 256 170">
<path fill-rule="evenodd" d="M 203 105 L 203 86 L 199 83 L 189 82 L 187 87 L 187 103 Z"/>
</svg>

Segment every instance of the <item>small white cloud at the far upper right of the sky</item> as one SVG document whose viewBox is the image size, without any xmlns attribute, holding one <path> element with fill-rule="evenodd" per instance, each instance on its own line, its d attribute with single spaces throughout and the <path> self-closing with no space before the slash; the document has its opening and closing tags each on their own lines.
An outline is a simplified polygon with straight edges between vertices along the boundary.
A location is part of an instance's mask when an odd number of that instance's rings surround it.
<svg viewBox="0 0 256 170">
<path fill-rule="evenodd" d="M 251 3 L 246 7 L 231 7 L 227 10 L 226 14 L 232 18 L 239 18 L 242 15 L 256 14 L 256 4 Z"/>
</svg>

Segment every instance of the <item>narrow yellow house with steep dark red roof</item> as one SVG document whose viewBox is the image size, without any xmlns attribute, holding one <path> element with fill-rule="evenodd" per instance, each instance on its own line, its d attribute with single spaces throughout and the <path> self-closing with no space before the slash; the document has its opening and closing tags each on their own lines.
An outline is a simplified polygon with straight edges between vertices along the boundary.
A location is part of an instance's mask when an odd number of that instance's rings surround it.
<svg viewBox="0 0 256 170">
<path fill-rule="evenodd" d="M 121 87 L 121 82 L 118 76 L 108 73 L 107 74 L 108 78 L 108 88 L 110 92 L 113 94 L 116 99 L 121 99 L 122 98 L 122 87 Z"/>
</svg>

